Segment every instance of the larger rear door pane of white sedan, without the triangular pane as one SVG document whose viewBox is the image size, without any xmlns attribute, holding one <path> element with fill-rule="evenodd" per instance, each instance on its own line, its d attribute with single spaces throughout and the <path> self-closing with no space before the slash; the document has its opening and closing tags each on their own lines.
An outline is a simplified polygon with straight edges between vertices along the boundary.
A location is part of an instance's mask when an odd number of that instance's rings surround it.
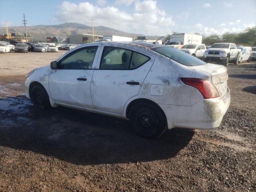
<svg viewBox="0 0 256 192">
<path fill-rule="evenodd" d="M 128 69 L 132 51 L 118 47 L 104 47 L 100 69 Z"/>
</svg>

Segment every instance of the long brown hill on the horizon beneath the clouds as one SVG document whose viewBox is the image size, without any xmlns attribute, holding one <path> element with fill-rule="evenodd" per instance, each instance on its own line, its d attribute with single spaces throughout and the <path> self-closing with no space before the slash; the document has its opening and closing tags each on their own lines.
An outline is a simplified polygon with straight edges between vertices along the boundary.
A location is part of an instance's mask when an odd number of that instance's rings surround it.
<svg viewBox="0 0 256 192">
<path fill-rule="evenodd" d="M 14 26 L 8 27 L 9 33 L 24 33 L 24 26 Z M 79 24 L 79 23 L 63 23 L 59 25 L 36 25 L 28 26 L 27 33 L 32 34 L 33 40 L 46 41 L 46 37 L 57 36 L 60 38 L 65 38 L 70 32 L 70 35 L 75 34 L 92 34 L 92 27 Z M 0 34 L 5 34 L 6 28 L 0 27 Z M 134 37 L 134 34 L 119 31 L 116 29 L 108 28 L 105 26 L 95 26 L 95 35 L 118 35 Z M 144 36 L 142 34 L 136 34 L 136 36 Z M 149 39 L 155 39 L 155 36 L 148 36 Z M 156 37 L 157 39 L 160 37 Z"/>
</svg>

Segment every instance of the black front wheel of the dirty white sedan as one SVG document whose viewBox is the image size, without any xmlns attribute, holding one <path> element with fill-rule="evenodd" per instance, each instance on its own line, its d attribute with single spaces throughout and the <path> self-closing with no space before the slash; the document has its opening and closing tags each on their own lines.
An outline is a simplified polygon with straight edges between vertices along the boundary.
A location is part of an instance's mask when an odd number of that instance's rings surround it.
<svg viewBox="0 0 256 192">
<path fill-rule="evenodd" d="M 46 90 L 40 86 L 35 85 L 31 89 L 31 100 L 34 106 L 40 109 L 47 109 L 50 107 L 50 100 Z"/>
</svg>

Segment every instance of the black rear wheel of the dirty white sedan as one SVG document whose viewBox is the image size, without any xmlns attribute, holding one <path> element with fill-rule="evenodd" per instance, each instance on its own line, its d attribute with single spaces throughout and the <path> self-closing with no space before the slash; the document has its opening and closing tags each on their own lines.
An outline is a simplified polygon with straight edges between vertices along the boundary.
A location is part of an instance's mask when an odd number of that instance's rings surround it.
<svg viewBox="0 0 256 192">
<path fill-rule="evenodd" d="M 136 104 L 129 117 L 135 131 L 143 138 L 157 138 L 167 129 L 164 113 L 151 103 Z"/>
</svg>

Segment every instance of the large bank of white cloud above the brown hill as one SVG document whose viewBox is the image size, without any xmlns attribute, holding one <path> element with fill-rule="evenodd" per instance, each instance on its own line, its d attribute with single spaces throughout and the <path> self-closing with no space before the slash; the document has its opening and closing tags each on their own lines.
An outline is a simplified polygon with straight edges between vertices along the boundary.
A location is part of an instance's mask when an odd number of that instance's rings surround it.
<svg viewBox="0 0 256 192">
<path fill-rule="evenodd" d="M 134 32 L 136 28 L 137 33 L 158 35 L 170 33 L 175 25 L 172 17 L 160 10 L 154 0 L 136 1 L 134 8 L 136 12 L 128 13 L 113 6 L 99 7 L 89 2 L 62 2 L 54 18 L 61 22 L 79 21 L 89 26 L 91 19 L 95 19 L 95 26 L 102 25 L 126 32 Z"/>
</svg>

